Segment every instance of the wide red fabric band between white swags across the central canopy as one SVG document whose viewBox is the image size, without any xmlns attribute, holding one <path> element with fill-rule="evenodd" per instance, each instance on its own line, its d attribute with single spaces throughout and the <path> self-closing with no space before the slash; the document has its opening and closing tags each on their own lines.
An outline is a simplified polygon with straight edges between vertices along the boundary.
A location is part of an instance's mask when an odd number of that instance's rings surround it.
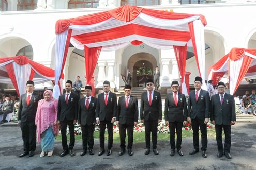
<svg viewBox="0 0 256 170">
<path fill-rule="evenodd" d="M 168 30 L 160 28 L 152 28 L 138 24 L 128 24 L 116 28 L 84 33 L 82 35 L 73 36 L 82 44 L 96 43 L 102 41 L 113 40 L 130 35 L 140 35 L 164 40 L 185 41 L 190 39 L 190 32 Z M 104 36 L 99 36 L 104 35 Z"/>
</svg>

